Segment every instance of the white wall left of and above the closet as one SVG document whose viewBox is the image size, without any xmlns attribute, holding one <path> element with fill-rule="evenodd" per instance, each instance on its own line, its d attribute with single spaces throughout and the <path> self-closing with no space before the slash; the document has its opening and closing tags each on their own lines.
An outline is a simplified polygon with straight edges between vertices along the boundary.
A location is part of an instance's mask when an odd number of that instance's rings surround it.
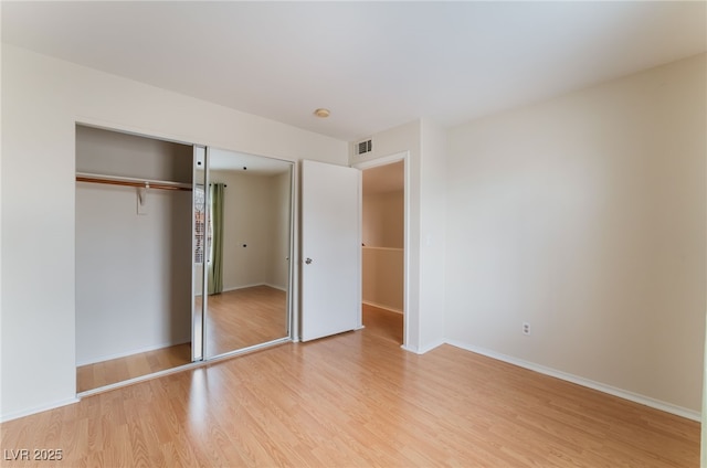
<svg viewBox="0 0 707 468">
<path fill-rule="evenodd" d="M 3 44 L 3 419 L 75 395 L 76 121 L 293 161 L 348 161 L 344 141 Z"/>
</svg>

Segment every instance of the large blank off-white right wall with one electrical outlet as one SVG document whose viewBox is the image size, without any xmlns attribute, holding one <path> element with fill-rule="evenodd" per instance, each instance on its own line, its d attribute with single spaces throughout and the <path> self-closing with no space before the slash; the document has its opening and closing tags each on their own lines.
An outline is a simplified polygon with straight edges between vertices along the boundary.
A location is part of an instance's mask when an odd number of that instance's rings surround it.
<svg viewBox="0 0 707 468">
<path fill-rule="evenodd" d="M 699 412 L 705 63 L 451 129 L 450 340 Z"/>
</svg>

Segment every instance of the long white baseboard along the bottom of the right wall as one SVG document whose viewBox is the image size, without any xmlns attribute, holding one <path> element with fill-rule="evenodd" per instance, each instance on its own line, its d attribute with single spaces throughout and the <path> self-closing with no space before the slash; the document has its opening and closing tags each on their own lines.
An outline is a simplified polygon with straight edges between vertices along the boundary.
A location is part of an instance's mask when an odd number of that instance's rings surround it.
<svg viewBox="0 0 707 468">
<path fill-rule="evenodd" d="M 496 359 L 498 361 L 507 362 L 509 364 L 518 365 L 530 371 L 539 372 L 545 375 L 550 375 L 567 382 L 576 383 L 578 385 L 585 386 L 588 389 L 597 390 L 599 392 L 608 393 L 620 398 L 629 400 L 634 403 L 639 403 L 645 406 L 650 406 L 655 410 L 661 410 L 666 413 L 682 416 L 692 421 L 701 421 L 701 414 L 694 410 L 688 410 L 682 406 L 674 405 L 672 403 L 662 402 L 659 400 L 652 398 L 650 396 L 640 395 L 637 393 L 629 392 L 626 390 L 616 389 L 615 386 L 606 385 L 601 382 L 595 382 L 589 379 L 580 377 L 578 375 L 568 374 L 567 372 L 558 371 L 545 365 L 536 364 L 534 362 L 524 361 L 523 359 L 513 358 L 506 354 L 502 354 L 496 351 L 490 351 L 484 348 L 475 347 L 473 344 L 463 343 L 456 340 L 446 340 L 447 344 L 456 348 L 461 348 L 466 351 L 471 351 L 477 354 L 485 355 L 487 358 Z"/>
</svg>

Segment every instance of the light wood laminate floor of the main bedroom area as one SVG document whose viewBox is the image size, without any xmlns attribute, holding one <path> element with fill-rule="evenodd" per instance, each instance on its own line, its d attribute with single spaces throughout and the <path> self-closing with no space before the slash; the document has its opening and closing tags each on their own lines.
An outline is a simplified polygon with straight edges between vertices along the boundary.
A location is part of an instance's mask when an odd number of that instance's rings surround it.
<svg viewBox="0 0 707 468">
<path fill-rule="evenodd" d="M 696 467 L 699 424 L 451 345 L 366 328 L 0 425 L 7 467 Z M 384 321 L 384 319 L 383 319 Z"/>
</svg>

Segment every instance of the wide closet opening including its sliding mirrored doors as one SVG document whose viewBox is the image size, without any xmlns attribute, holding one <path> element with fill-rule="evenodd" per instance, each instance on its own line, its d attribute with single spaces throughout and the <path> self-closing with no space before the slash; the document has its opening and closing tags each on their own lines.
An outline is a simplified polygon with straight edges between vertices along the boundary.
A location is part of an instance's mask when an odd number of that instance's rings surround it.
<svg viewBox="0 0 707 468">
<path fill-rule="evenodd" d="M 292 341 L 294 162 L 76 125 L 76 390 Z"/>
</svg>

